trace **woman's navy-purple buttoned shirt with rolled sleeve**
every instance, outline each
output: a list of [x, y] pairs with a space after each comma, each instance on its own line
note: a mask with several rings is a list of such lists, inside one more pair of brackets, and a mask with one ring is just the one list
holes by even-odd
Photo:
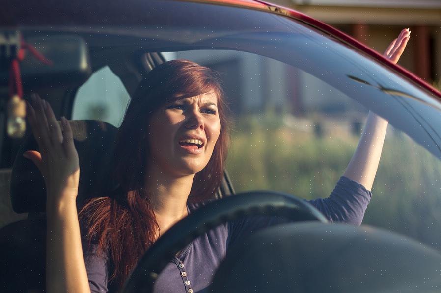
[[[308, 202], [321, 211], [330, 222], [360, 225], [371, 196], [371, 192], [361, 184], [341, 177], [328, 198]], [[191, 213], [201, 205], [203, 204], [188, 204], [188, 210]], [[181, 250], [159, 275], [154, 292], [205, 292], [229, 245], [253, 231], [286, 221], [282, 218], [262, 216], [242, 218], [219, 225]], [[83, 251], [91, 292], [107, 292], [107, 258], [95, 254], [94, 247], [87, 247], [86, 241], [83, 241]]]

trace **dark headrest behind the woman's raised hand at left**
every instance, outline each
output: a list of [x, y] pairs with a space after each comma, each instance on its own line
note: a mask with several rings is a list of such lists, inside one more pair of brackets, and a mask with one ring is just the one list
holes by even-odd
[[[74, 144], [80, 159], [80, 184], [77, 206], [84, 199], [116, 189], [111, 182], [113, 147], [117, 128], [109, 123], [95, 120], [69, 121]], [[32, 133], [28, 133], [14, 160], [11, 174], [11, 202], [16, 213], [44, 212], [46, 210], [46, 187], [35, 164], [23, 157], [27, 150], [39, 151]], [[99, 191], [99, 192], [98, 192]]]

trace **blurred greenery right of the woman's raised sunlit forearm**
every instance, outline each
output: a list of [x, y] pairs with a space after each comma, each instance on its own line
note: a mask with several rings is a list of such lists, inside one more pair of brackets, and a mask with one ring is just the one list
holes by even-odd
[[365, 222], [441, 247], [441, 164], [400, 133], [385, 142]]

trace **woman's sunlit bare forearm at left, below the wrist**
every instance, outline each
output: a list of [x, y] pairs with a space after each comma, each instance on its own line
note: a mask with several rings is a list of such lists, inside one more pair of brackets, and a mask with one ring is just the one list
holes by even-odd
[[[66, 196], [48, 196], [48, 198]], [[75, 196], [47, 203], [47, 292], [90, 292]]]

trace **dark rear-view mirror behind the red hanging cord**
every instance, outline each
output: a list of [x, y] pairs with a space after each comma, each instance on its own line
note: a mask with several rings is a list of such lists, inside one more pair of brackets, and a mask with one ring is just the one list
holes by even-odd
[[[0, 39], [1, 36], [0, 33]], [[25, 37], [24, 41], [51, 61], [51, 65], [45, 64], [31, 52], [26, 51], [24, 60], [20, 62], [20, 75], [25, 91], [35, 87], [51, 86], [54, 83], [83, 82], [90, 76], [88, 49], [81, 37], [45, 35]], [[1, 53], [4, 53], [4, 49], [2, 51]], [[8, 79], [9, 70], [2, 66], [0, 86], [7, 86]]]

